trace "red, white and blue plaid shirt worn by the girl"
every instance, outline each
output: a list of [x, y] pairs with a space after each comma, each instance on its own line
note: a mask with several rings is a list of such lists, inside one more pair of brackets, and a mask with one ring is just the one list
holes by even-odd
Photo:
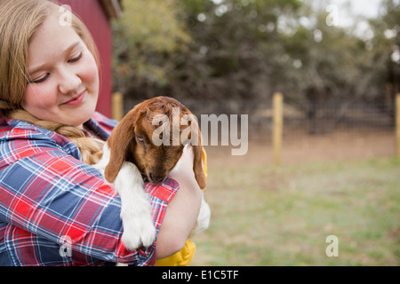
[[[85, 125], [107, 139], [116, 122]], [[121, 200], [81, 160], [67, 138], [0, 113], [0, 266], [155, 264], [156, 243], [124, 248]], [[178, 187], [146, 184], [157, 233]]]

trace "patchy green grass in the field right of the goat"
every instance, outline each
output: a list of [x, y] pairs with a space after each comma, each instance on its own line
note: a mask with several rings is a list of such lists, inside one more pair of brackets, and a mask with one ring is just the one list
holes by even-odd
[[[392, 158], [209, 170], [212, 221], [193, 265], [399, 265], [400, 162]], [[325, 239], [336, 235], [339, 256]]]

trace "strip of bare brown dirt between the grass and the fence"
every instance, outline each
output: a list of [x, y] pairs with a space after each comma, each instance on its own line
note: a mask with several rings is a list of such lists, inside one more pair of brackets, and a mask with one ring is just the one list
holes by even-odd
[[[291, 134], [284, 137], [282, 164], [362, 160], [396, 153], [395, 133], [387, 130], [338, 130], [325, 135]], [[232, 146], [205, 146], [209, 167], [226, 164], [272, 164], [271, 138], [249, 141], [248, 152], [233, 156]]]

